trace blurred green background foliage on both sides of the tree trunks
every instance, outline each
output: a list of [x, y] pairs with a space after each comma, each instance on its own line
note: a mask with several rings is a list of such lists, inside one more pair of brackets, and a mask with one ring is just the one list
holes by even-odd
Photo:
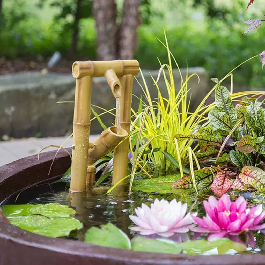
[[[32, 3], [31, 5], [28, 3], [30, 1], [3, 0], [0, 15], [0, 57], [31, 56], [45, 59], [56, 50], [67, 55], [72, 42], [72, 33], [66, 30], [65, 25], [72, 23], [74, 16], [70, 14], [71, 12], [61, 16], [61, 10], [53, 7], [54, 10], [50, 12], [46, 7], [44, 18], [41, 19], [39, 14], [42, 10], [37, 7], [38, 0], [32, 1], [36, 2], [34, 8]], [[148, 4], [141, 8], [145, 15], [143, 24], [138, 29], [135, 58], [139, 60], [142, 68], [157, 69], [159, 67], [157, 57], [162, 63], [167, 61], [166, 50], [157, 40], [157, 38], [164, 39], [163, 28], [166, 29], [171, 52], [179, 65], [185, 67], [188, 60], [189, 67], [205, 67], [210, 77], [221, 78], [244, 60], [264, 50], [265, 27], [261, 26], [258, 31], [240, 38], [246, 28], [244, 21], [257, 18], [253, 14], [246, 17], [242, 1], [235, 1], [240, 8], [242, 7], [241, 9], [238, 6], [226, 6], [222, 9], [214, 6], [216, 12], [214, 15], [211, 15], [209, 5], [212, 0], [187, 0], [184, 1], [185, 3], [183, 0], [178, 0], [178, 5], [175, 4], [176, 1], [167, 0], [169, 2], [167, 6], [161, 5], [161, 1], [152, 1], [152, 4], [157, 3], [158, 6], [160, 2], [161, 9], [157, 11], [150, 7], [149, 1], [146, 1]], [[50, 6], [49, 0], [47, 2]], [[165, 11], [166, 9], [172, 10]], [[175, 10], [178, 13], [175, 14]], [[204, 15], [202, 23], [193, 18], [193, 13], [196, 15], [198, 10]], [[96, 32], [92, 18], [80, 19], [76, 56], [80, 59], [96, 58]], [[264, 70], [261, 69], [258, 58], [235, 72], [234, 78], [237, 83], [264, 87]]]

